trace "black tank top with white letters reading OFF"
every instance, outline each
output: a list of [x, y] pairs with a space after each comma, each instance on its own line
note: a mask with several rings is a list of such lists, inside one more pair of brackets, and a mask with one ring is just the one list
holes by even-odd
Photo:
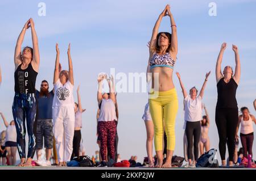
[[28, 64], [27, 69], [21, 69], [22, 64], [18, 66], [14, 73], [16, 93], [32, 94], [35, 93], [36, 76], [38, 73], [32, 68], [31, 63]]

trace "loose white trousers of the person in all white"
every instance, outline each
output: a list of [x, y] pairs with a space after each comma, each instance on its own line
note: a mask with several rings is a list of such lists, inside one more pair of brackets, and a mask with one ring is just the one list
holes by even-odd
[[53, 107], [52, 118], [58, 161], [70, 161], [73, 151], [73, 137], [75, 132], [74, 107]]

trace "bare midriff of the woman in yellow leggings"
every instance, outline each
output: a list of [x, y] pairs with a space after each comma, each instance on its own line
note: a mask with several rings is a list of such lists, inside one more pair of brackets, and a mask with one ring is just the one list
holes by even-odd
[[[156, 91], [168, 91], [174, 89], [174, 82], [172, 82], [172, 72], [174, 70], [167, 67], [156, 67], [151, 69], [152, 73], [152, 89]], [[158, 75], [157, 75], [158, 74]], [[155, 85], [155, 78], [159, 77], [158, 85]], [[157, 89], [158, 86], [158, 89]]]

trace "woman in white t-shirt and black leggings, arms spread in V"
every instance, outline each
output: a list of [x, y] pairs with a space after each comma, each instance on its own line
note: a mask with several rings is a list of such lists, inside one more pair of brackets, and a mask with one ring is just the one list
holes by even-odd
[[188, 140], [188, 166], [195, 167], [195, 164], [192, 163], [192, 146], [194, 146], [194, 155], [196, 161], [199, 154], [199, 140], [201, 134], [201, 99], [203, 98], [204, 95], [204, 89], [208, 81], [210, 71], [205, 75], [205, 81], [201, 88], [199, 96], [197, 96], [196, 87], [192, 87], [189, 90], [188, 95], [183, 83], [181, 82], [180, 74], [176, 72], [176, 75], [179, 78], [180, 86], [184, 96], [184, 120], [186, 121], [185, 132]]

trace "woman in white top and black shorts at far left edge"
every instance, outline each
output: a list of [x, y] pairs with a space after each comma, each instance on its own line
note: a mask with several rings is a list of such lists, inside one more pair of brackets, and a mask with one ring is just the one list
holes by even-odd
[[16, 152], [17, 152], [17, 133], [15, 128], [14, 120], [10, 124], [6, 121], [5, 116], [2, 112], [0, 115], [6, 126], [6, 137], [5, 137], [5, 148], [7, 151], [7, 157], [10, 161], [10, 165], [16, 165]]

